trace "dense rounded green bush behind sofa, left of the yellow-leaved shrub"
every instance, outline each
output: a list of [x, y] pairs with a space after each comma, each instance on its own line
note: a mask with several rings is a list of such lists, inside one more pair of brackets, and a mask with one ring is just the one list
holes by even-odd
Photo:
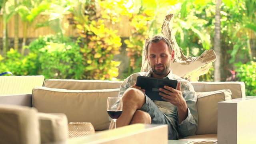
[[82, 55], [80, 47], [72, 42], [46, 42], [46, 46], [39, 51], [41, 74], [48, 78], [81, 79], [83, 73]]

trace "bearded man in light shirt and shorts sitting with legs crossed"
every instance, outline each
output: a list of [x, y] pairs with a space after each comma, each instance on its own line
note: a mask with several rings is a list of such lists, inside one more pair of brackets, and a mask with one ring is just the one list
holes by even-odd
[[[154, 36], [148, 41], [146, 56], [151, 70], [130, 75], [120, 86], [119, 96], [122, 96], [123, 112], [116, 121], [116, 127], [136, 123], [167, 124], [168, 138], [174, 140], [196, 134], [196, 92], [188, 81], [172, 74], [170, 65], [174, 54], [167, 38]], [[136, 86], [137, 76], [178, 80], [177, 89], [168, 86], [159, 88], [160, 96], [167, 102], [152, 101], [146, 96], [144, 89]], [[111, 126], [112, 122], [110, 128]]]

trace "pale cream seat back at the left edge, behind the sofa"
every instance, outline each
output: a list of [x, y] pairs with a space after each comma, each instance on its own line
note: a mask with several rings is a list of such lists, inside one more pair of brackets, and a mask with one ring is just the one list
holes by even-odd
[[44, 76], [0, 76], [0, 96], [31, 94], [43, 82]]

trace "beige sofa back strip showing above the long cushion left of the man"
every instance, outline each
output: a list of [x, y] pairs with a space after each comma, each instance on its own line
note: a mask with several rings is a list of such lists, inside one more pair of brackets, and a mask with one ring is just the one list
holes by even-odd
[[47, 88], [60, 88], [67, 90], [102, 90], [120, 88], [122, 82], [109, 80], [45, 80]]

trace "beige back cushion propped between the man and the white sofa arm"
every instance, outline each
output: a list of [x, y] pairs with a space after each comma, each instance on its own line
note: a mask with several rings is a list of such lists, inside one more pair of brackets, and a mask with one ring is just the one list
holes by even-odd
[[217, 134], [218, 102], [230, 100], [230, 90], [197, 93], [198, 130], [199, 134]]

